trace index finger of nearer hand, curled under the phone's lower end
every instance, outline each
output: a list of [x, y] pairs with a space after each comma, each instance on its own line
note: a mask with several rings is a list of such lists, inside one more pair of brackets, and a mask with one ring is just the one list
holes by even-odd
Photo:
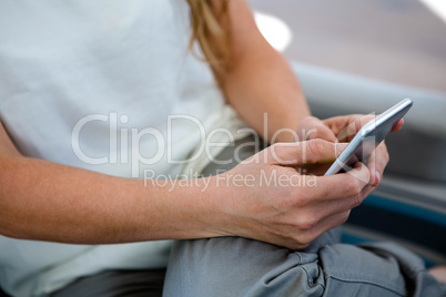
[[[332, 201], [355, 197], [361, 194], [369, 182], [368, 168], [363, 163], [356, 163], [347, 173], [338, 173], [327, 176], [302, 176], [303, 187], [296, 196], [304, 196], [307, 201]], [[305, 199], [303, 199], [305, 201]]]

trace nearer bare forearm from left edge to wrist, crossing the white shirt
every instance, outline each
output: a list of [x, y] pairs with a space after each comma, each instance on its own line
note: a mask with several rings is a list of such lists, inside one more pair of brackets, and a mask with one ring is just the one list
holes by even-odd
[[0, 234], [6, 236], [113, 244], [214, 235], [206, 229], [213, 199], [200, 180], [183, 188], [144, 185], [26, 157], [2, 158], [0, 167]]

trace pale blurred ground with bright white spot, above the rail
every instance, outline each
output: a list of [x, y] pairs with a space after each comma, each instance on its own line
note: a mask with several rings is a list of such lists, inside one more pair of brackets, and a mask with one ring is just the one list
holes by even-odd
[[266, 39], [298, 62], [446, 92], [444, 0], [250, 0]]

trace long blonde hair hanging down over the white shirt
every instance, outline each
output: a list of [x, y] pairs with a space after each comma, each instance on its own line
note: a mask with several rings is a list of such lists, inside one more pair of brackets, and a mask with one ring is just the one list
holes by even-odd
[[190, 50], [193, 51], [195, 41], [200, 43], [204, 60], [211, 65], [221, 86], [230, 63], [229, 0], [220, 0], [219, 6], [213, 6], [213, 1], [215, 2], [215, 0], [187, 0], [192, 24]]

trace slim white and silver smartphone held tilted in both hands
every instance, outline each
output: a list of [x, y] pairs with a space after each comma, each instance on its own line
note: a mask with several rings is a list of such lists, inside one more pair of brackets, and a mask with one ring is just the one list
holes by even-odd
[[405, 99], [367, 122], [356, 133], [355, 137], [348, 143], [347, 147], [345, 147], [325, 175], [347, 172], [352, 170], [356, 162], [366, 163], [372, 152], [387, 136], [412, 105], [412, 100]]

